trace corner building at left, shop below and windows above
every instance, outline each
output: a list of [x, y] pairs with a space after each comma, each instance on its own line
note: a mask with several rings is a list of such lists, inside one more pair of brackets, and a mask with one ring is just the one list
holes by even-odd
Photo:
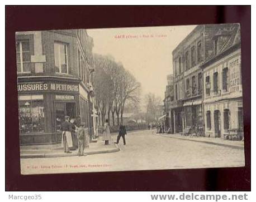
[[16, 33], [21, 145], [60, 142], [66, 115], [93, 137], [92, 47], [85, 29]]

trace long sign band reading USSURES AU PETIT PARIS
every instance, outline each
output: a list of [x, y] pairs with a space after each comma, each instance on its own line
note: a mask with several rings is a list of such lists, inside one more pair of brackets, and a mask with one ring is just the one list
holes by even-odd
[[79, 92], [77, 84], [55, 82], [18, 83], [18, 92], [54, 91], [54, 92]]

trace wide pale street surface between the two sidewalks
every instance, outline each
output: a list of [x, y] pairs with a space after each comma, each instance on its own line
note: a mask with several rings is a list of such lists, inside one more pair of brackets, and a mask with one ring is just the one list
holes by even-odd
[[126, 142], [124, 146], [120, 139], [120, 151], [108, 154], [21, 159], [22, 174], [244, 166], [243, 149], [169, 138], [152, 130], [128, 132]]

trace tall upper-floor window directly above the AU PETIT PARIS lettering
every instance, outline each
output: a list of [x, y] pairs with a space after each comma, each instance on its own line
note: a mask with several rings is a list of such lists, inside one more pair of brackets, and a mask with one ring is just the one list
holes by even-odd
[[54, 43], [54, 61], [56, 73], [68, 72], [68, 46], [64, 43]]

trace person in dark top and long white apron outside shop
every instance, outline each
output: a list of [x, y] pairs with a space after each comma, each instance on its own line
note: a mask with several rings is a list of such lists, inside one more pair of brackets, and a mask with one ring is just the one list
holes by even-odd
[[60, 130], [62, 131], [61, 145], [64, 147], [65, 153], [71, 153], [69, 147], [73, 147], [72, 142], [72, 124], [69, 122], [69, 116], [65, 116], [65, 121], [61, 124]]

